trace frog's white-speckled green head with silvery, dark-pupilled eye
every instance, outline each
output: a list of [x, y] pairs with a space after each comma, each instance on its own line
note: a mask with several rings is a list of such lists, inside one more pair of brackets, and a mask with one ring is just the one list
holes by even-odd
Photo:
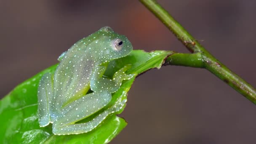
[[108, 55], [109, 60], [118, 59], [131, 53], [133, 46], [124, 35], [115, 33], [110, 27], [102, 27], [98, 32], [102, 34], [102, 39], [108, 42], [104, 53]]

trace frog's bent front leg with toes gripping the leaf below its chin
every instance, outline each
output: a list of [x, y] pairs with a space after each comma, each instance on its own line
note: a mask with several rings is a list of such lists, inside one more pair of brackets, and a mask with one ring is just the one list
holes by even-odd
[[122, 84], [122, 80], [129, 80], [134, 76], [133, 74], [130, 74], [130, 75], [125, 74], [125, 71], [127, 71], [130, 67], [131, 65], [125, 65], [123, 68], [115, 72], [112, 80], [109, 80], [107, 78], [102, 77], [107, 67], [103, 65], [99, 65], [93, 71], [93, 75], [90, 83], [91, 90], [92, 91], [108, 91], [109, 93], [114, 93], [120, 88]]

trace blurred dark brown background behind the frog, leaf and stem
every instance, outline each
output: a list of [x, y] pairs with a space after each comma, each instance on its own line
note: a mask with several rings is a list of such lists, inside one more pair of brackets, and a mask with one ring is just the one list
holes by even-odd
[[[256, 87], [256, 1], [159, 0], [220, 61]], [[103, 26], [134, 49], [188, 52], [137, 0], [0, 0], [0, 96]], [[138, 77], [113, 144], [254, 144], [256, 106], [205, 69]]]

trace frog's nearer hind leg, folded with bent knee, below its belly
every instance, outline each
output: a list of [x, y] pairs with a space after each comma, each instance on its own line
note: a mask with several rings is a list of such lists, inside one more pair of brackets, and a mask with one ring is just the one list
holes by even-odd
[[93, 92], [68, 104], [61, 110], [61, 117], [53, 123], [53, 133], [58, 135], [79, 134], [93, 130], [106, 116], [98, 115], [87, 123], [75, 123], [105, 107], [112, 99], [107, 92]]

